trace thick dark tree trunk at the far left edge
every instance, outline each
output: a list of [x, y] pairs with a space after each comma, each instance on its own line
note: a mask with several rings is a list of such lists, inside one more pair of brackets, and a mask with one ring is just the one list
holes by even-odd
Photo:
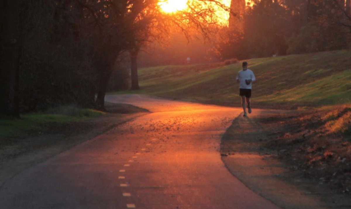
[[22, 54], [20, 1], [1, 1], [0, 114], [19, 117], [19, 68]]

